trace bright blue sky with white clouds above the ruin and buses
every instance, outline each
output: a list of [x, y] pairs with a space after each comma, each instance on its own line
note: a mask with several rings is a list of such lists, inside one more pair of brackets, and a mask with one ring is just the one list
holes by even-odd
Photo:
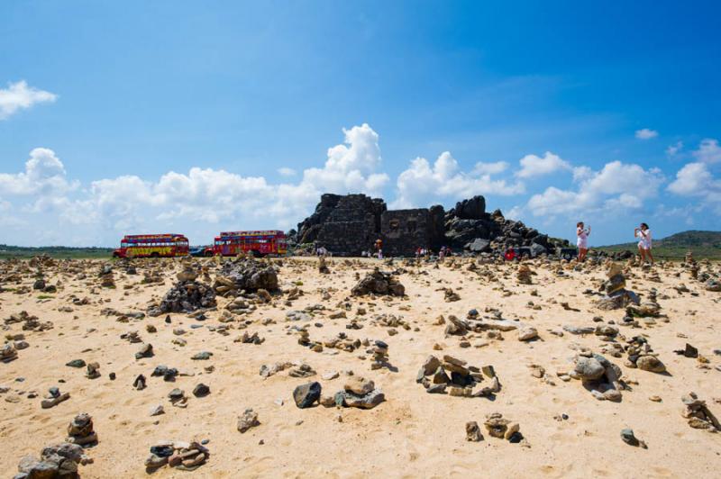
[[[392, 4], [392, 5], [388, 5]], [[631, 5], [627, 5], [631, 4]], [[721, 229], [714, 2], [0, 4], [0, 243], [484, 194], [591, 244]]]

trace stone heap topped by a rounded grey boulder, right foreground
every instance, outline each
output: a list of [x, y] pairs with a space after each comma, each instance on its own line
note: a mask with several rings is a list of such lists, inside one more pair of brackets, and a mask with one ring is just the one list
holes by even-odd
[[621, 401], [621, 368], [599, 354], [581, 351], [574, 359], [575, 366], [569, 373], [573, 379], [580, 379], [583, 385], [599, 401]]

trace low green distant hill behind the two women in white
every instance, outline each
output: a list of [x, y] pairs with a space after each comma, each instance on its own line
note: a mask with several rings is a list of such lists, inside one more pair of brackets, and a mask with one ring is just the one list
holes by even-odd
[[[616, 252], [630, 249], [635, 251], [638, 242], [620, 245], [600, 246], [600, 251]], [[692, 251], [694, 258], [721, 259], [721, 231], [689, 230], [672, 234], [663, 239], [653, 240], [653, 256], [667, 258], [683, 258], [687, 251]]]

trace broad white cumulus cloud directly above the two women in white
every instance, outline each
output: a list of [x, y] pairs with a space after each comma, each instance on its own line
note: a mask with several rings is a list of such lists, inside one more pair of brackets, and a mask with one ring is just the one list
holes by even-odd
[[643, 169], [620, 161], [607, 163], [599, 171], [587, 172], [576, 190], [555, 186], [534, 194], [526, 208], [534, 216], [557, 216], [577, 212], [637, 209], [658, 194], [663, 176], [658, 168]]

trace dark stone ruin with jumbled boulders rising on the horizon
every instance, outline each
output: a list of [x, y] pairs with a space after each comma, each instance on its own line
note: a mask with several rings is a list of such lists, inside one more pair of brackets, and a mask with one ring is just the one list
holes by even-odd
[[437, 252], [442, 246], [471, 253], [525, 247], [535, 257], [569, 246], [568, 241], [550, 239], [521, 221], [505, 219], [499, 210], [486, 212], [486, 199], [480, 195], [446, 212], [441, 205], [388, 210], [382, 199], [365, 194], [324, 194], [315, 212], [289, 237], [343, 257], [373, 252], [377, 239], [383, 241], [388, 257], [412, 257], [418, 248]]

